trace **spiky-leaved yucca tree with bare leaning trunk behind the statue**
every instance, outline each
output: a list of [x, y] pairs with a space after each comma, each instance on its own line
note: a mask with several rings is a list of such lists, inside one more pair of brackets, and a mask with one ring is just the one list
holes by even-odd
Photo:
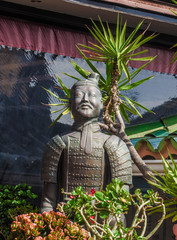
[[[147, 64], [152, 62], [155, 58], [152, 56], [141, 56], [142, 54], [147, 52], [147, 50], [138, 51], [138, 49], [140, 46], [153, 39], [156, 35], [152, 34], [148, 37], [145, 37], [145, 33], [147, 31], [146, 29], [144, 32], [140, 33], [137, 36], [138, 30], [140, 29], [143, 21], [141, 21], [136, 26], [136, 28], [128, 37], [126, 37], [127, 23], [125, 22], [122, 26], [119, 22], [119, 17], [117, 18], [115, 36], [112, 34], [108, 24], [106, 28], [102, 23], [101, 19], [99, 19], [99, 23], [100, 28], [92, 20], [93, 26], [92, 28], [89, 28], [89, 31], [97, 41], [97, 44], [90, 43], [90, 46], [78, 44], [77, 49], [90, 67], [91, 71], [96, 72], [100, 75], [99, 87], [102, 92], [104, 104], [104, 123], [100, 123], [100, 126], [111, 134], [118, 135], [127, 144], [133, 161], [143, 173], [144, 177], [149, 178], [148, 172], [151, 172], [151, 170], [146, 166], [144, 161], [136, 152], [130, 139], [126, 135], [124, 120], [129, 123], [129, 117], [127, 112], [135, 115], [138, 114], [139, 116], [141, 116], [138, 108], [142, 108], [149, 112], [151, 111], [146, 107], [142, 106], [140, 103], [123, 95], [121, 91], [129, 91], [152, 78], [152, 76], [149, 76], [148, 78], [141, 79], [139, 81], [135, 80], [136, 76], [140, 73], [140, 71]], [[93, 61], [100, 61], [105, 63], [105, 78], [94, 66]], [[130, 73], [127, 66], [129, 61], [144, 61], [145, 63], [140, 68]], [[90, 74], [89, 71], [84, 70], [74, 61], [71, 61], [71, 63], [81, 77], [88, 77], [88, 75]], [[64, 74], [77, 81], [80, 80], [80, 78], [76, 78], [75, 76], [71, 76], [67, 73]], [[132, 82], [132, 80], [135, 81]], [[64, 83], [59, 77], [58, 81], [67, 97], [66, 99], [61, 99], [60, 97], [46, 89], [46, 91], [51, 93], [60, 101], [60, 103], [58, 104], [56, 103], [50, 105], [55, 105], [59, 107], [63, 106], [62, 109], [55, 111], [61, 111], [61, 113], [53, 123], [58, 121], [61, 116], [70, 112], [68, 100], [70, 98], [70, 89], [68, 89], [64, 85]]]

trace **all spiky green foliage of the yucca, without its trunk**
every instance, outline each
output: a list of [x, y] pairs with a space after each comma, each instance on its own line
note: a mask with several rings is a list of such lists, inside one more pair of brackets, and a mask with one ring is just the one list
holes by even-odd
[[[131, 90], [152, 78], [152, 76], [150, 76], [148, 78], [141, 79], [138, 81], [135, 80], [136, 76], [140, 73], [140, 71], [149, 63], [151, 63], [155, 58], [151, 56], [142, 57], [143, 54], [147, 52], [147, 50], [139, 51], [138, 48], [142, 46], [144, 43], [153, 39], [156, 35], [152, 34], [151, 36], [144, 37], [147, 29], [143, 33], [138, 35], [138, 31], [140, 30], [140, 27], [142, 26], [143, 21], [141, 21], [135, 27], [135, 29], [129, 34], [129, 36], [127, 36], [127, 33], [126, 33], [127, 22], [122, 24], [122, 20], [119, 19], [119, 16], [117, 17], [117, 26], [115, 29], [115, 36], [111, 32], [109, 24], [106, 24], [105, 26], [105, 24], [103, 24], [100, 18], [99, 18], [99, 24], [100, 24], [99, 26], [93, 20], [91, 21], [92, 21], [92, 27], [89, 28], [89, 31], [91, 32], [95, 40], [97, 40], [97, 43], [90, 43], [89, 46], [78, 44], [78, 46], [76, 47], [80, 52], [81, 56], [83, 57], [84, 61], [87, 63], [87, 65], [91, 69], [91, 72], [95, 72], [100, 75], [100, 80], [98, 85], [102, 92], [103, 104], [106, 105], [111, 98], [112, 72], [115, 67], [115, 64], [117, 64], [118, 72], [119, 72], [119, 74], [117, 75], [117, 81], [118, 81], [117, 89], [119, 93], [122, 90], [124, 91]], [[130, 60], [145, 61], [145, 63], [143, 63], [143, 65], [138, 69], [135, 69], [133, 72], [130, 72], [128, 68], [128, 62]], [[95, 67], [93, 63], [94, 61], [100, 61], [105, 63], [105, 75], [106, 75], [105, 77]], [[90, 71], [86, 71], [85, 69], [80, 67], [74, 60], [71, 61], [71, 64], [73, 65], [74, 70], [79, 74], [79, 77], [75, 77], [74, 75], [70, 75], [67, 73], [64, 73], [64, 75], [74, 79], [75, 81], [79, 81], [82, 78], [87, 78], [88, 75], [90, 74]], [[123, 75], [125, 76], [124, 78], [122, 77]], [[62, 80], [58, 76], [57, 78], [58, 78], [59, 85], [66, 96], [66, 99], [61, 99], [56, 94], [45, 89], [48, 93], [56, 97], [60, 102], [59, 103], [60, 105], [58, 104], [55, 106], [63, 107], [61, 110], [55, 111], [55, 113], [60, 112], [60, 114], [54, 122], [58, 121], [60, 117], [62, 117], [65, 113], [69, 112], [68, 109], [69, 109], [69, 98], [70, 98], [70, 89], [65, 86], [65, 84], [62, 82]], [[133, 79], [134, 79], [134, 82], [131, 83]], [[130, 112], [131, 114], [138, 114], [140, 117], [142, 117], [137, 107], [147, 110], [149, 112], [152, 112], [146, 107], [142, 106], [140, 103], [135, 102], [130, 98], [124, 96], [122, 93], [119, 94], [119, 97], [121, 99], [121, 104], [119, 106], [120, 112], [126, 122], [129, 122], [129, 117], [127, 112]], [[112, 116], [112, 119], [114, 119], [115, 113], [111, 111], [112, 110], [110, 110], [110, 114]]]

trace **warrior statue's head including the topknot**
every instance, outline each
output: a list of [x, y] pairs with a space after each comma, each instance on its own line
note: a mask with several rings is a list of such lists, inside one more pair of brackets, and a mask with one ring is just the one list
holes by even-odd
[[70, 109], [75, 120], [99, 116], [103, 103], [98, 80], [99, 74], [91, 73], [87, 79], [77, 81], [71, 88]]

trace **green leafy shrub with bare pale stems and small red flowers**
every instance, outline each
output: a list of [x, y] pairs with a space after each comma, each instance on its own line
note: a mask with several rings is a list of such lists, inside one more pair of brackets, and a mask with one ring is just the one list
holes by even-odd
[[[123, 185], [117, 178], [106, 186], [105, 191], [94, 192], [92, 189], [90, 194], [80, 186], [72, 193], [65, 193], [70, 195], [71, 200], [63, 207], [60, 204], [58, 209], [63, 209], [74, 221], [84, 223], [91, 236], [97, 240], [151, 239], [165, 218], [163, 199], [153, 190], [143, 195], [137, 189], [134, 194], [130, 194]], [[131, 205], [135, 208], [135, 214], [130, 225], [125, 226], [123, 216], [128, 214]], [[163, 211], [154, 229], [147, 233], [148, 211], [153, 206], [161, 207]]]

